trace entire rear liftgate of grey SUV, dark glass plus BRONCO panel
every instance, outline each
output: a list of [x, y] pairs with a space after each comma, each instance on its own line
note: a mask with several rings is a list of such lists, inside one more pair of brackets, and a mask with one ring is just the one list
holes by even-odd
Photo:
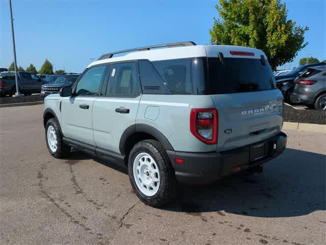
[[236, 54], [208, 58], [209, 93], [219, 115], [218, 151], [262, 141], [282, 129], [283, 96], [267, 60], [254, 52]]

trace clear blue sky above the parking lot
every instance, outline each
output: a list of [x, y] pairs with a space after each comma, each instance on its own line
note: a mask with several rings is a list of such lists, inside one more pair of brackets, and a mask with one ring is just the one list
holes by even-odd
[[[308, 26], [293, 68], [307, 54], [326, 59], [326, 1], [282, 0], [288, 18]], [[17, 65], [39, 70], [47, 58], [54, 69], [82, 72], [104, 53], [152, 44], [195, 41], [209, 44], [213, 0], [12, 0]], [[0, 0], [0, 67], [13, 61], [8, 0]]]

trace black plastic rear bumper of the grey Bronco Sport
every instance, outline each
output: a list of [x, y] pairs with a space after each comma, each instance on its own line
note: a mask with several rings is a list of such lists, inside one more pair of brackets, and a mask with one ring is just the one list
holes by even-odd
[[[252, 145], [225, 152], [167, 152], [175, 169], [177, 180], [183, 184], [200, 185], [233, 174], [235, 167], [240, 167], [242, 171], [279, 156], [286, 148], [286, 141], [287, 135], [281, 132], [274, 137], [253, 144], [266, 143], [266, 156], [256, 161], [250, 161]], [[277, 145], [276, 150], [274, 150], [274, 144]], [[184, 163], [175, 163], [175, 158], [184, 159]]]

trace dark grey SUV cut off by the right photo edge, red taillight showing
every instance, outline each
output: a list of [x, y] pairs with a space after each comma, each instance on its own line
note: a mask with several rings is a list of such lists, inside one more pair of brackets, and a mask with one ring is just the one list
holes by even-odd
[[295, 81], [290, 97], [293, 103], [313, 105], [316, 110], [326, 110], [326, 65], [308, 68]]

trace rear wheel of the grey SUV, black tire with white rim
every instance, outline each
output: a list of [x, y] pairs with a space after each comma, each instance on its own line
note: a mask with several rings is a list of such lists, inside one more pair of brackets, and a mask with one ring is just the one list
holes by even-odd
[[156, 140], [143, 140], [133, 146], [128, 159], [128, 174], [138, 198], [149, 206], [166, 205], [176, 197], [173, 167], [166, 150]]

